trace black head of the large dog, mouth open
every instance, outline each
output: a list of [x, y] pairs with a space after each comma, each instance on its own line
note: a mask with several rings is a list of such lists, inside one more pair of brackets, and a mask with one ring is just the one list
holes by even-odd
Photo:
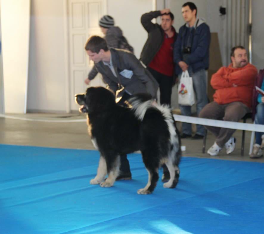
[[114, 93], [100, 86], [87, 88], [85, 94], [76, 94], [75, 102], [83, 113], [100, 112], [116, 105]]

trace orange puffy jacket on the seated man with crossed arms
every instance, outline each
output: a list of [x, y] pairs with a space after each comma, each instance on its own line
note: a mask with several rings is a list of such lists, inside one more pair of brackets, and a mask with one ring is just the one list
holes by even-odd
[[251, 108], [256, 77], [257, 68], [250, 63], [242, 68], [233, 68], [232, 63], [228, 67], [221, 67], [211, 78], [211, 85], [216, 90], [214, 101], [218, 104], [243, 102]]

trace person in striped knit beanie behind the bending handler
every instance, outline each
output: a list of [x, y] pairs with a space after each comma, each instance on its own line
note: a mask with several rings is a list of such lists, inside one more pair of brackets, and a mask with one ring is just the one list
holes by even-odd
[[[133, 53], [133, 47], [128, 44], [127, 39], [123, 36], [122, 30], [118, 26], [114, 26], [114, 24], [114, 18], [110, 15], [104, 15], [99, 20], [99, 26], [105, 35], [104, 39], [106, 40], [108, 48], [125, 49]], [[84, 81], [86, 85], [96, 77], [97, 73], [98, 71], [94, 66]]]

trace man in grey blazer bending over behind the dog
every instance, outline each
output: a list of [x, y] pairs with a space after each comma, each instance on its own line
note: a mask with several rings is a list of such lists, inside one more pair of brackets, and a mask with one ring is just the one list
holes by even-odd
[[[159, 84], [135, 55], [121, 49], [108, 49], [105, 39], [99, 36], [91, 36], [85, 44], [85, 50], [108, 88], [116, 96], [119, 95], [118, 104], [124, 105], [136, 93], [149, 93], [156, 98]], [[120, 159], [120, 175], [117, 180], [130, 180], [131, 172], [126, 155], [122, 155]]]

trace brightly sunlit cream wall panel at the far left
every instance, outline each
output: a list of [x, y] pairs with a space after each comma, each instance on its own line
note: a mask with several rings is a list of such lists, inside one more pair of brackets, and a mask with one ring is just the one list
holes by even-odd
[[1, 0], [0, 3], [5, 112], [25, 113], [30, 1]]

